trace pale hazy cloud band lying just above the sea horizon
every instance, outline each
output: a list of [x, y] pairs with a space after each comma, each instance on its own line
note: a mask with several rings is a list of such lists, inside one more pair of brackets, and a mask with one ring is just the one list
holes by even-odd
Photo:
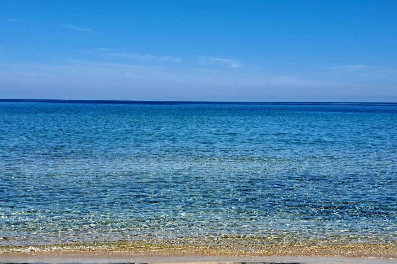
[[[335, 101], [355, 95], [366, 96], [362, 100], [368, 101], [370, 96], [382, 94], [397, 98], [395, 82], [384, 84], [371, 92], [371, 85], [354, 82], [179, 65], [159, 67], [94, 61], [69, 61], [64, 65], [0, 63], [3, 98], [19, 98], [19, 94], [29, 98], [173, 101]], [[356, 100], [357, 96], [352, 98]]]

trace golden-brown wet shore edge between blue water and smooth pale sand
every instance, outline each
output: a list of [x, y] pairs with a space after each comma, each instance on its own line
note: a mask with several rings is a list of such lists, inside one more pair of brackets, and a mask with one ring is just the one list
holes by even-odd
[[160, 243], [58, 244], [0, 246], [0, 263], [4, 256], [70, 255], [162, 255], [202, 254], [208, 256], [340, 256], [348, 258], [397, 259], [397, 244], [229, 244], [175, 245]]

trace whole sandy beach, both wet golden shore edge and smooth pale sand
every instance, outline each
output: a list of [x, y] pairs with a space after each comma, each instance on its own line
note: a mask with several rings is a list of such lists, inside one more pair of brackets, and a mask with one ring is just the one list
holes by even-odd
[[[42, 246], [44, 247], [44, 246]], [[261, 250], [227, 247], [125, 244], [118, 246], [76, 245], [22, 248], [0, 253], [0, 263], [81, 264], [218, 264], [218, 263], [307, 263], [386, 264], [397, 263], [395, 245], [273, 246]]]

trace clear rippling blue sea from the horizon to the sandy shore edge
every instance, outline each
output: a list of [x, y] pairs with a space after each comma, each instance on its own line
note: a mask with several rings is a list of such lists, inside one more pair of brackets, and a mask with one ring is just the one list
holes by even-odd
[[0, 101], [0, 245], [395, 243], [397, 104]]

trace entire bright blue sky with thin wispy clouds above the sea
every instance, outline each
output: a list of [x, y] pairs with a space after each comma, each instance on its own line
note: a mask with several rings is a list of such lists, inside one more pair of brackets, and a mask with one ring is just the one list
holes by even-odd
[[397, 1], [1, 0], [0, 98], [397, 102]]

